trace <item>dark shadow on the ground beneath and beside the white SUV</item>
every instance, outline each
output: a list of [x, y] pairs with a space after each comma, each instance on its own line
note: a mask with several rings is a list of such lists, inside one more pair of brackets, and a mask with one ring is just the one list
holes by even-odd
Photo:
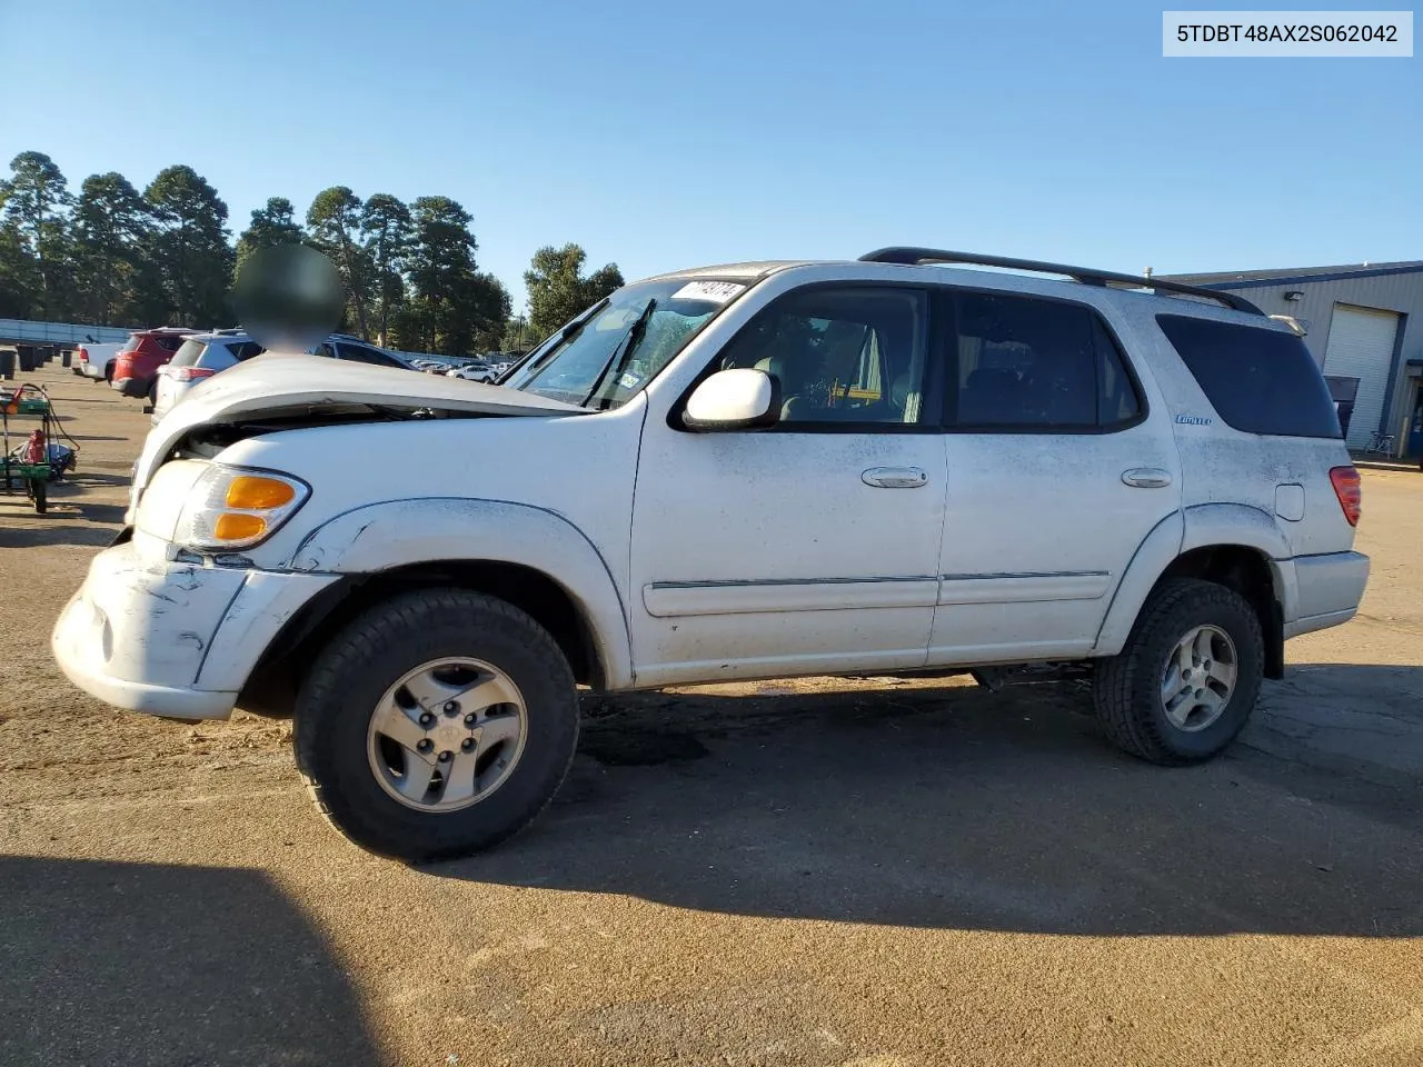
[[[1276, 704], [1308, 701], [1321, 671], [1360, 693], [1375, 670], [1399, 681], [1312, 670]], [[539, 822], [428, 871], [857, 923], [1423, 935], [1423, 790], [1248, 744], [1154, 767], [1107, 747], [1089, 711], [1066, 686], [595, 700]]]

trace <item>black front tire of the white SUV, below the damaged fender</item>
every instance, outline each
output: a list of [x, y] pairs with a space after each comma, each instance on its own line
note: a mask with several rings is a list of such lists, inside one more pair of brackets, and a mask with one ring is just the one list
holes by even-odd
[[[464, 750], [457, 745], [471, 740], [455, 737], [475, 713], [465, 716], [467, 708], [454, 699], [440, 704], [447, 696], [470, 697], [472, 689], [454, 690], [472, 686], [471, 676], [460, 680], [458, 671], [465, 667], [425, 670], [431, 663], [450, 660], [477, 662], [481, 681], [484, 669], [495, 680], [502, 674], [499, 684], [514, 687], [504, 691], [518, 697], [484, 711], [490, 717], [482, 723], [491, 733], [498, 723], [502, 730], [519, 730], [521, 740], [517, 751], [505, 747], [512, 741], [495, 743], [492, 755], [498, 761], [482, 774], [478, 760], [488, 758], [481, 754], [482, 741], [461, 755]], [[440, 671], [455, 681], [435, 681]], [[427, 693], [444, 696], [414, 706], [414, 690], [400, 684], [410, 674], [423, 681]], [[401, 747], [380, 733], [380, 724], [398, 721], [388, 710], [401, 701], [410, 704], [401, 731], [414, 731], [421, 738], [411, 744], [434, 744], [425, 760], [450, 757], [451, 763], [424, 767], [417, 763], [421, 757], [416, 755], [416, 747]], [[451, 706], [454, 713], [448, 710]], [[467, 706], [481, 704], [471, 699]], [[381, 708], [387, 710], [386, 717], [380, 716]], [[515, 727], [509, 727], [509, 708], [519, 720]], [[414, 716], [420, 716], [418, 723]], [[403, 593], [357, 616], [317, 654], [297, 693], [295, 718], [296, 764], [317, 809], [361, 848], [410, 864], [470, 855], [527, 827], [558, 792], [578, 744], [573, 674], [554, 639], [512, 605], [460, 589]], [[420, 724], [425, 718], [434, 720], [428, 730]], [[397, 764], [403, 771], [398, 775], [391, 770]], [[457, 775], [445, 778], [443, 768], [461, 765], [475, 767], [468, 780], [474, 798], [447, 801], [444, 797], [455, 788]], [[435, 784], [418, 798], [411, 792], [401, 801], [400, 782], [414, 791], [411, 777], [421, 773], [427, 782]], [[478, 795], [481, 778], [491, 775], [502, 777]], [[450, 809], [450, 804], [465, 807]]]

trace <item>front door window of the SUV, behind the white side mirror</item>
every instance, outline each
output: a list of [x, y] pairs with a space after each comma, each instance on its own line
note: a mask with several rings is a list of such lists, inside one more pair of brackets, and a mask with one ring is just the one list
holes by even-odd
[[912, 289], [807, 289], [757, 314], [721, 368], [756, 367], [781, 387], [781, 423], [918, 423], [926, 296]]

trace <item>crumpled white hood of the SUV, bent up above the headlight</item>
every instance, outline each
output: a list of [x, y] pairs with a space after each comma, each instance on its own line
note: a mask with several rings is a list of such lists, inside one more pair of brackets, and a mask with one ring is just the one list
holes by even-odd
[[194, 427], [297, 414], [312, 408], [379, 404], [487, 415], [585, 415], [586, 408], [529, 393], [420, 374], [397, 367], [344, 363], [322, 356], [266, 353], [205, 381], [152, 428], [134, 468], [144, 487], [154, 468]]

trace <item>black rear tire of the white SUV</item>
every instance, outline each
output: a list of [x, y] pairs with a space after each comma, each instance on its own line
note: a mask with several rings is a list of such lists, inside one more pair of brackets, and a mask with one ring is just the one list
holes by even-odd
[[[1215, 703], [1224, 703], [1224, 707], [1212, 713], [1197, 706], [1185, 714], [1198, 714], [1200, 724], [1190, 720], [1181, 724], [1167, 710], [1167, 664], [1170, 660], [1173, 671], [1183, 666], [1178, 646], [1195, 632], [1204, 632], [1215, 649], [1207, 662], [1221, 663], [1234, 657], [1235, 673], [1224, 701], [1220, 690], [1225, 687], [1205, 674], [1202, 689], [1208, 689]], [[1195, 646], [1195, 642], [1191, 644]], [[1093, 680], [1097, 721], [1113, 744], [1143, 760], [1163, 765], [1210, 760], [1245, 727], [1259, 697], [1264, 664], [1265, 640], [1259, 617], [1239, 593], [1214, 582], [1173, 579], [1147, 600], [1121, 653], [1097, 666]], [[1202, 676], [1192, 674], [1190, 681], [1185, 677], [1183, 670], [1180, 681], [1170, 679], [1173, 686], [1184, 687], [1180, 703], [1175, 703], [1177, 716], [1194, 700], [1192, 691], [1202, 693], [1202, 689], [1191, 689]], [[1215, 717], [1210, 718], [1211, 714]]]

